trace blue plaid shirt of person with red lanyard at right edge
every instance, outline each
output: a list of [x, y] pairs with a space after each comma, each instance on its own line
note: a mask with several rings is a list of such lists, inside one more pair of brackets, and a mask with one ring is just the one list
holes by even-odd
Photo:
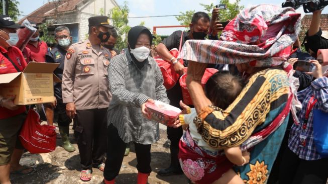
[[298, 100], [302, 103], [302, 110], [298, 115], [300, 123], [298, 125], [293, 124], [289, 134], [288, 147], [289, 149], [298, 155], [299, 158], [303, 160], [317, 160], [321, 156], [315, 149], [313, 141], [313, 112], [311, 110], [306, 129], [304, 134], [306, 136], [305, 147], [300, 147], [300, 134], [303, 131], [302, 125], [305, 120], [305, 113], [308, 103], [311, 97], [317, 100], [313, 109], [320, 109], [322, 112], [328, 113], [328, 78], [321, 77], [313, 80], [311, 85], [298, 92]]

